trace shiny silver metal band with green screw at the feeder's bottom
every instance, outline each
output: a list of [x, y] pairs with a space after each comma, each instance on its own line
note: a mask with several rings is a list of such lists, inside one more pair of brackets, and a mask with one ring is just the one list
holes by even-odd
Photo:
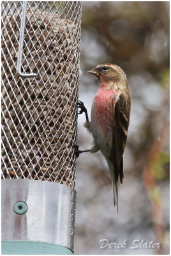
[[28, 242], [33, 246], [40, 243], [42, 248], [68, 248], [73, 252], [75, 199], [75, 189], [63, 184], [2, 180], [2, 241], [28, 244], [28, 248], [31, 248]]

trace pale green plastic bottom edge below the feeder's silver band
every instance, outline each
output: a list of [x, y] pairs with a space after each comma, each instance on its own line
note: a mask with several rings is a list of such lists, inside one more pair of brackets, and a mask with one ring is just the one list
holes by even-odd
[[70, 249], [57, 244], [43, 243], [37, 241], [6, 240], [2, 241], [1, 254], [51, 254], [69, 255], [73, 254]]

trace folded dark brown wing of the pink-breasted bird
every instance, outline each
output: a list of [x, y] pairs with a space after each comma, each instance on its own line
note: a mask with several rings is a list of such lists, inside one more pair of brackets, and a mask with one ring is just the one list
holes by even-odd
[[128, 125], [130, 122], [130, 94], [121, 92], [117, 100], [112, 100], [114, 127], [112, 141], [111, 160], [114, 163], [115, 181], [120, 177], [121, 184], [123, 182], [123, 153], [128, 134]]

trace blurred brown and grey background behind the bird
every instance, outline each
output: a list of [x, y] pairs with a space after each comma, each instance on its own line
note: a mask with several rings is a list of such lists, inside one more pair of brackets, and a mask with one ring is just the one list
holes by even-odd
[[[169, 253], [169, 2], [83, 2], [79, 99], [91, 115], [98, 90], [87, 70], [114, 63], [128, 76], [131, 119], [119, 213], [100, 152], [77, 159], [75, 254]], [[93, 138], [78, 116], [78, 145]], [[100, 248], [100, 239], [126, 248]], [[160, 248], [131, 249], [135, 239]], [[140, 246], [142, 247], [142, 246]]]

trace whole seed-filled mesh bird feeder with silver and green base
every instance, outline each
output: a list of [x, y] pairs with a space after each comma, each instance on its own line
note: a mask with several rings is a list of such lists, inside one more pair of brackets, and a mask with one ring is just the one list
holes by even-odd
[[70, 254], [81, 2], [2, 12], [2, 252]]

